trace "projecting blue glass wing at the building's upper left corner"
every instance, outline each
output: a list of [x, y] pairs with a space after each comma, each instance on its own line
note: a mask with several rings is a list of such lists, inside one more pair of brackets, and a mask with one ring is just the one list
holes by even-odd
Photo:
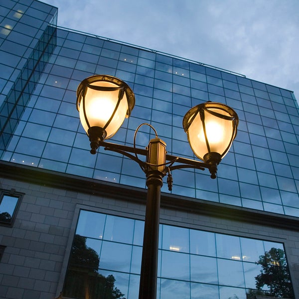
[[57, 9], [11, 1], [1, 13], [0, 152], [9, 144], [55, 47]]

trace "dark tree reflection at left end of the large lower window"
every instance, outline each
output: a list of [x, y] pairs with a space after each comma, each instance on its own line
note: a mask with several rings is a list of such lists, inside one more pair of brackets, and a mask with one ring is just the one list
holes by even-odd
[[113, 275], [98, 273], [100, 258], [86, 246], [86, 238], [75, 235], [63, 295], [76, 299], [126, 299], [114, 286]]

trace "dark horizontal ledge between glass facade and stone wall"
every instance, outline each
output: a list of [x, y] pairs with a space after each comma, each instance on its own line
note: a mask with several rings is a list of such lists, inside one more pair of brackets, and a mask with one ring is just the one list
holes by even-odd
[[[0, 161], [0, 176], [113, 199], [146, 203], [147, 189], [101, 181], [42, 168]], [[239, 206], [161, 193], [161, 208], [208, 215], [219, 219], [299, 231], [299, 218]]]

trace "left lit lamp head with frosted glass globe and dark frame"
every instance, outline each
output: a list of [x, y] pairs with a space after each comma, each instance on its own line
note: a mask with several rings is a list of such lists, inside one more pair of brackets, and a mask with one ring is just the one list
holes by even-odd
[[91, 153], [96, 153], [99, 141], [115, 135], [134, 105], [133, 91], [116, 77], [95, 75], [79, 84], [77, 110], [91, 142]]

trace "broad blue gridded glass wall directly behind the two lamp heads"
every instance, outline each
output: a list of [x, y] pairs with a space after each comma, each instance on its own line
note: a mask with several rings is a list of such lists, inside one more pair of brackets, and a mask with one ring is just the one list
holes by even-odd
[[[136, 95], [130, 119], [112, 142], [132, 145], [136, 128], [147, 122], [169, 153], [194, 158], [182, 129], [189, 108], [212, 100], [238, 113], [238, 135], [219, 165], [218, 179], [212, 181], [200, 170], [177, 170], [173, 194], [299, 216], [299, 110], [292, 92], [68, 30], [57, 29], [57, 46], [24, 103], [17, 127], [10, 126], [13, 137], [7, 145], [3, 141], [1, 159], [145, 187], [135, 162], [102, 150], [96, 156], [87, 151], [75, 99], [78, 84], [94, 74], [119, 77]], [[7, 121], [7, 113], [2, 114]], [[150, 137], [143, 128], [137, 146], [146, 147]], [[167, 187], [162, 191], [168, 192]]]

